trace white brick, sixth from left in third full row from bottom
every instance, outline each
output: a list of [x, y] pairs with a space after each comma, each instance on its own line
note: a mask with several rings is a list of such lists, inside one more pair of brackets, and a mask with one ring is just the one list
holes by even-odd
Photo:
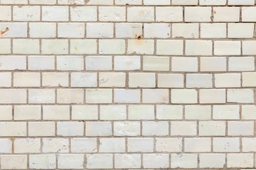
[[142, 122], [143, 136], [168, 136], [168, 122]]

